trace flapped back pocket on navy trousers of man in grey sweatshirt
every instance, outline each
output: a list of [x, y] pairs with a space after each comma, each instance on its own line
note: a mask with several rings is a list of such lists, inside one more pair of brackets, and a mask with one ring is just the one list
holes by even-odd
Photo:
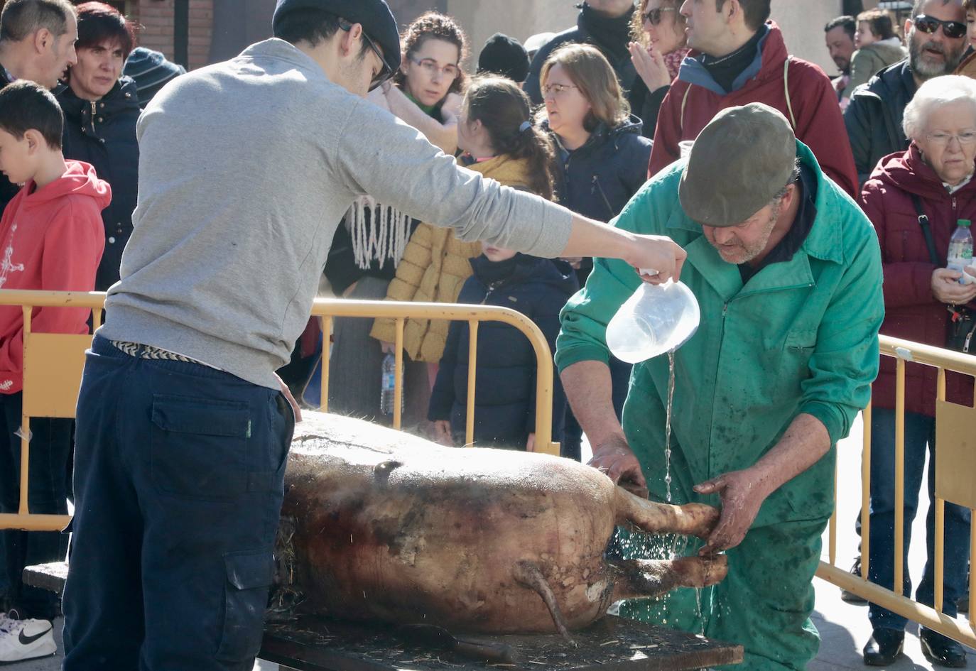
[[152, 397], [152, 482], [185, 498], [233, 500], [247, 492], [247, 403]]

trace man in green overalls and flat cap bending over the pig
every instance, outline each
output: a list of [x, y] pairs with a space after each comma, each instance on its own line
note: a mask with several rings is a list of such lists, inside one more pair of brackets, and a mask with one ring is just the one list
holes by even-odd
[[[681, 280], [702, 323], [675, 353], [671, 501], [721, 505], [693, 547], [729, 560], [701, 608], [686, 589], [622, 614], [742, 644], [751, 670], [803, 669], [819, 646], [811, 581], [834, 508], [834, 446], [877, 373], [874, 229], [760, 103], [719, 112], [615, 225], [670, 235], [688, 253]], [[563, 310], [556, 363], [590, 464], [665, 500], [668, 357], [634, 367], [623, 427], [606, 368], [606, 325], [639, 283], [627, 264], [595, 259]], [[652, 552], [633, 537], [622, 545], [628, 557]]]

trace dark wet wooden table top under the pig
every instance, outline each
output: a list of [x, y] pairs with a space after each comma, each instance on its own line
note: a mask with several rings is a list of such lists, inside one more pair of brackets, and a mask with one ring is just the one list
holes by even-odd
[[413, 645], [390, 625], [305, 617], [268, 624], [259, 656], [302, 671], [682, 671], [737, 664], [743, 658], [741, 646], [612, 615], [573, 635], [576, 649], [557, 635], [477, 637], [514, 648], [520, 662], [512, 666]]

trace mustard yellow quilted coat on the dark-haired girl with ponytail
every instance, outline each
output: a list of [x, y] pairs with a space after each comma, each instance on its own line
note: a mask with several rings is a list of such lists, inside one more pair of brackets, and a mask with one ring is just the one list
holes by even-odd
[[[526, 188], [526, 161], [499, 156], [468, 166], [486, 178], [507, 186]], [[417, 226], [410, 236], [403, 258], [396, 266], [396, 277], [389, 283], [386, 300], [453, 303], [461, 286], [471, 275], [469, 258], [481, 254], [480, 242], [463, 242], [451, 228], [430, 223]], [[437, 363], [444, 353], [450, 322], [408, 319], [403, 325], [403, 347], [413, 361]], [[370, 335], [392, 342], [396, 330], [392, 319], [377, 319]]]

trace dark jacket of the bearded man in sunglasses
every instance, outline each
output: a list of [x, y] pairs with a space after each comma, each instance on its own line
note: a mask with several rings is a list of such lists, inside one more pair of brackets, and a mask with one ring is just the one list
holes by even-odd
[[902, 117], [915, 89], [915, 77], [905, 59], [884, 68], [851, 94], [844, 125], [854, 150], [859, 185], [871, 177], [881, 158], [909, 148]]

